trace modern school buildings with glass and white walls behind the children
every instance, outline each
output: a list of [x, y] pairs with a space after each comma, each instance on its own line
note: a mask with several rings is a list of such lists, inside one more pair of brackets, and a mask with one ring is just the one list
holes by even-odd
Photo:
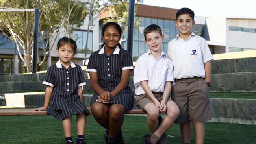
[[[133, 61], [136, 61], [140, 55], [148, 50], [148, 46], [144, 42], [143, 31], [150, 24], [157, 24], [162, 28], [165, 35], [163, 51], [166, 52], [168, 42], [178, 34], [178, 30], [175, 27], [177, 11], [178, 9], [148, 5], [139, 5], [137, 7], [135, 18], [140, 19], [141, 23], [134, 30]], [[73, 61], [80, 66], [83, 65], [85, 57], [88, 59], [91, 53], [98, 50], [103, 42], [101, 38], [103, 20], [92, 22], [88, 21], [88, 19], [89, 17], [85, 19], [83, 26], [76, 28], [72, 34], [72, 38], [78, 46], [78, 53], [73, 58]], [[88, 26], [89, 31], [87, 30]], [[195, 16], [195, 26], [192, 31], [206, 39], [212, 54], [256, 49], [256, 17], [208, 18]], [[87, 32], [89, 32], [88, 44], [87, 49], [85, 49]], [[63, 35], [63, 30], [60, 30], [56, 41]], [[56, 43], [50, 44], [55, 45], [55, 47], [50, 51], [47, 61], [41, 70], [46, 70], [48, 66], [58, 61], [55, 49]], [[122, 47], [127, 49], [127, 31], [124, 34]], [[0, 68], [1, 75], [22, 73], [22, 61], [19, 58], [16, 45], [4, 37], [0, 37]]]

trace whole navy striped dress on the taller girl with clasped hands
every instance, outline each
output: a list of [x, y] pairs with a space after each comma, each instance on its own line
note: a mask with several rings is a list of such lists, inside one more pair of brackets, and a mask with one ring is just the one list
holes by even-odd
[[[104, 47], [93, 52], [89, 58], [87, 72], [96, 72], [98, 74], [98, 83], [100, 87], [111, 92], [121, 81], [122, 70], [133, 70], [132, 57], [127, 50], [115, 48], [115, 51], [107, 55]], [[91, 106], [96, 102], [98, 94], [95, 92], [91, 99]], [[121, 90], [109, 103], [121, 104], [126, 111], [134, 106], [134, 94], [130, 87]]]

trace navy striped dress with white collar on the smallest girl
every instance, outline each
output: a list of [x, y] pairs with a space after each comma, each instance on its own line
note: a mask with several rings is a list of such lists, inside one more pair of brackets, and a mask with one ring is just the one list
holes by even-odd
[[53, 87], [48, 114], [57, 120], [63, 120], [73, 114], [86, 115], [89, 111], [77, 94], [78, 87], [85, 85], [82, 69], [72, 61], [68, 69], [61, 65], [60, 61], [50, 66], [47, 70], [43, 84]]

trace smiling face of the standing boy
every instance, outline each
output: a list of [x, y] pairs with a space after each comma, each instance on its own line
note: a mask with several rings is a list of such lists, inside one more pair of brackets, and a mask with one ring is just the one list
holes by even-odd
[[195, 21], [189, 16], [189, 14], [182, 14], [175, 21], [175, 26], [180, 32], [181, 38], [188, 38], [191, 35], [192, 27], [194, 26]]

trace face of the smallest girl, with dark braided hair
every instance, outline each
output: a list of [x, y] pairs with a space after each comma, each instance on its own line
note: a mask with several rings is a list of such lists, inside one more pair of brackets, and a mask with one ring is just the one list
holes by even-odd
[[76, 54], [69, 44], [60, 46], [59, 49], [56, 50], [56, 53], [59, 55], [59, 60], [62, 65], [69, 64], [72, 57]]

